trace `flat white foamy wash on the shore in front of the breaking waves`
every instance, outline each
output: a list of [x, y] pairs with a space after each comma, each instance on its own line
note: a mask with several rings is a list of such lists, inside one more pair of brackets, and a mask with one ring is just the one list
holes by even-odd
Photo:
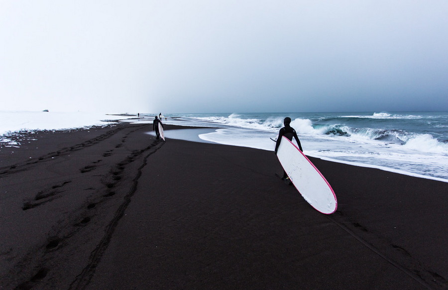
[[[217, 129], [215, 132], [201, 134], [199, 137], [209, 142], [264, 150], [273, 150], [275, 146], [275, 143], [268, 139], [274, 138], [274, 135], [244, 129]], [[316, 138], [311, 135], [302, 135], [300, 141], [304, 153], [313, 157], [448, 181], [448, 156], [446, 155], [412, 153], [402, 145], [388, 145], [380, 142], [351, 143], [328, 136]]]

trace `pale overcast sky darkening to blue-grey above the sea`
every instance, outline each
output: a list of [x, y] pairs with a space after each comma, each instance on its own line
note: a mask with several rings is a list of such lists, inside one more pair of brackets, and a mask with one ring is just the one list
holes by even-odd
[[447, 0], [1, 0], [1, 110], [448, 111]]

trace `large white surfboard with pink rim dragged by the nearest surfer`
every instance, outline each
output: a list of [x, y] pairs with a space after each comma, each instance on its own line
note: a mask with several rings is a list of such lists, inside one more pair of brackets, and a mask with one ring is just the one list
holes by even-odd
[[336, 194], [330, 183], [310, 159], [284, 136], [277, 157], [296, 189], [312, 207], [325, 214], [336, 211]]

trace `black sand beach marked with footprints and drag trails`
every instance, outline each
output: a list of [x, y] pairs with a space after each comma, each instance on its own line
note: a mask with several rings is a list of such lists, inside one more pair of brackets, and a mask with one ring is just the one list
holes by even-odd
[[448, 183], [310, 158], [324, 215], [273, 152], [151, 128], [0, 149], [0, 289], [448, 289]]

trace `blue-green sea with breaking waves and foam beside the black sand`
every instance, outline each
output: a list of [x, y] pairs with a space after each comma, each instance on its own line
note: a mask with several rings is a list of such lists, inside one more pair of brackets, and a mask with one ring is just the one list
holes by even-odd
[[[207, 142], [265, 150], [274, 149], [270, 138], [276, 139], [283, 119], [290, 117], [291, 127], [299, 135], [307, 155], [448, 182], [448, 112], [167, 114], [165, 117], [167, 124], [216, 128], [198, 134]], [[164, 118], [162, 121], [165, 122]]]

